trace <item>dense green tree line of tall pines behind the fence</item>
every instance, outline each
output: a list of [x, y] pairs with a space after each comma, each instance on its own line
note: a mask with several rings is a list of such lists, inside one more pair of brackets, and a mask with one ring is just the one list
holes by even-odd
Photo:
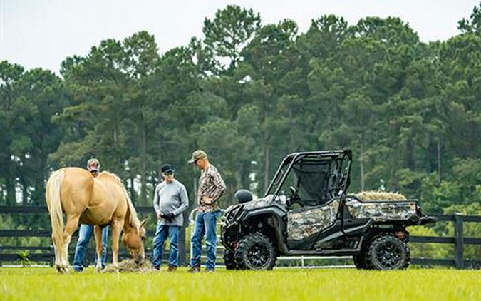
[[91, 157], [138, 205], [175, 165], [193, 204], [187, 160], [201, 148], [225, 208], [239, 188], [263, 195], [288, 153], [351, 148], [351, 192], [481, 213], [480, 24], [481, 4], [457, 36], [424, 43], [395, 17], [325, 15], [302, 33], [231, 5], [162, 54], [140, 31], [66, 58], [60, 75], [1, 61], [0, 204], [43, 205], [49, 173]]

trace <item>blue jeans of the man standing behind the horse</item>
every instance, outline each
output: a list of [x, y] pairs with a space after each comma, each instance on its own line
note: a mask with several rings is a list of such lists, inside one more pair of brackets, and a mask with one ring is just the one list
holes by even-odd
[[[90, 237], [92, 237], [93, 225], [81, 224], [78, 230], [78, 240], [75, 248], [75, 256], [73, 257], [73, 270], [81, 272], [83, 270], [83, 259], [86, 257], [87, 245]], [[107, 236], [108, 227], [102, 230], [102, 268], [105, 267], [105, 258], [107, 258]], [[97, 265], [97, 252], [95, 252], [95, 265]]]

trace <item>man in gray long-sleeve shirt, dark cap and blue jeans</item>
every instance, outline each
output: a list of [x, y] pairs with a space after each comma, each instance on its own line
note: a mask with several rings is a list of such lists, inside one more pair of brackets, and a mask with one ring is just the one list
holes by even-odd
[[157, 230], [154, 237], [152, 265], [160, 270], [164, 242], [169, 237], [169, 267], [167, 271], [177, 270], [179, 261], [179, 231], [182, 227], [182, 212], [189, 207], [185, 186], [175, 180], [175, 168], [166, 164], [161, 168], [164, 181], [157, 185], [154, 193], [154, 210], [157, 215]]

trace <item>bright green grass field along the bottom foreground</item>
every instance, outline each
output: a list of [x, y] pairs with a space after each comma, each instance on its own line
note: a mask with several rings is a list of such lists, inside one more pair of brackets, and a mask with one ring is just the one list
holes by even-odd
[[0, 267], [0, 300], [481, 300], [481, 271], [291, 270], [58, 275]]

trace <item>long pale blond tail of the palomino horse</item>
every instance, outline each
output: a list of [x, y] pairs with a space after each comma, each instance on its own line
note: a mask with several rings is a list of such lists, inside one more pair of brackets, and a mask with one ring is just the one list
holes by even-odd
[[59, 245], [63, 245], [63, 213], [60, 198], [61, 183], [65, 173], [63, 170], [57, 170], [48, 178], [45, 191], [48, 212], [52, 223], [52, 238]]

